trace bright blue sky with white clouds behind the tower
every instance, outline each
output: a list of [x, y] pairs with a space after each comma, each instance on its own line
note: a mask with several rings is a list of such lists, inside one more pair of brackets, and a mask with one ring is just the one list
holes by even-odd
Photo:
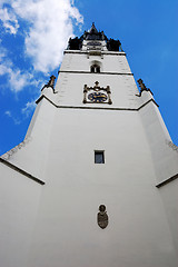
[[135, 79], [152, 90], [178, 145], [177, 13], [177, 0], [1, 0], [0, 154], [23, 140], [69, 37], [81, 36], [93, 21], [121, 41]]

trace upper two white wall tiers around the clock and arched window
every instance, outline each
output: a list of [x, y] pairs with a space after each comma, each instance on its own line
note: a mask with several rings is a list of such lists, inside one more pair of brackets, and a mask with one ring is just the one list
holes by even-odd
[[[101, 66], [100, 73], [90, 73], [90, 66], [95, 61]], [[71, 53], [66, 51], [60, 71], [62, 72], [56, 85], [58, 93], [55, 101], [57, 105], [90, 107], [89, 103], [82, 103], [83, 86], [93, 87], [95, 82], [99, 81], [100, 87], [110, 86], [112, 107], [134, 108], [138, 106], [136, 97], [138, 89], [125, 52], [113, 55], [103, 52], [103, 58], [101, 56], [88, 58], [85, 52]], [[92, 103], [92, 107], [95, 106], [98, 107], [98, 103]], [[110, 106], [101, 103], [99, 107], [110, 108]]]

